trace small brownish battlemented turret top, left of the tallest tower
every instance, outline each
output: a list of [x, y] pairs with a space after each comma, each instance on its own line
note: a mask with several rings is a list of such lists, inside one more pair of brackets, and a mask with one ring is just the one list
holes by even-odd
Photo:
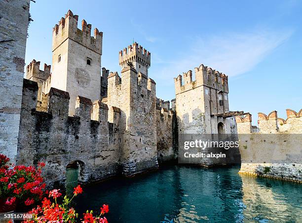
[[[42, 82], [50, 75], [51, 65], [44, 64], [44, 70], [40, 70], [40, 61], [35, 59], [26, 67], [26, 78]], [[38, 80], [39, 79], [39, 80]]]

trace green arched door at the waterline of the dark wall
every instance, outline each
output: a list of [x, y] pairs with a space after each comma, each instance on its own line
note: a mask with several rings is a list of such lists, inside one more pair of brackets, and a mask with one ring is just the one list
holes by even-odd
[[72, 193], [74, 187], [82, 180], [83, 166], [82, 161], [73, 161], [66, 166], [66, 192]]

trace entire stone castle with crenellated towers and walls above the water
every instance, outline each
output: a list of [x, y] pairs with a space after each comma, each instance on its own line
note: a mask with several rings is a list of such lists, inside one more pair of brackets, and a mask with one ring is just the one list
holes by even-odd
[[[24, 28], [26, 24], [17, 25]], [[77, 182], [86, 184], [157, 169], [179, 158], [184, 136], [221, 141], [236, 138], [237, 133], [255, 133], [249, 113], [229, 111], [227, 75], [200, 65], [195, 68], [195, 80], [192, 71], [177, 76], [176, 97], [170, 108], [169, 101], [156, 98], [156, 83], [148, 73], [149, 51], [136, 42], [129, 45], [119, 51], [120, 74], [109, 72], [101, 67], [103, 33], [95, 28], [91, 36], [92, 25], [85, 20], [81, 29], [77, 25], [78, 16], [69, 10], [54, 26], [52, 65], [44, 64], [43, 70], [40, 62], [33, 60], [23, 79], [22, 60], [9, 59], [15, 62], [15, 73], [22, 83], [9, 87], [11, 80], [7, 80], [7, 89], [18, 96], [8, 102], [18, 100], [14, 108], [0, 107], [0, 121], [5, 120], [1, 123], [5, 131], [0, 133], [4, 136], [0, 153], [19, 165], [45, 162], [43, 174], [49, 187], [65, 187], [71, 171], [76, 171]], [[24, 43], [24, 38], [20, 41]], [[6, 58], [3, 55], [0, 57]], [[274, 114], [260, 115], [260, 130], [301, 130], [301, 119], [297, 122], [301, 111], [292, 113], [296, 119], [283, 122], [276, 114], [276, 118], [272, 118]], [[12, 127], [14, 134], [5, 137]], [[212, 166], [240, 162], [240, 155], [242, 160], [250, 155], [242, 149], [244, 142], [242, 139], [240, 153], [238, 149], [225, 151], [227, 159], [186, 163]], [[255, 168], [248, 168], [243, 165], [242, 172], [256, 173]]]

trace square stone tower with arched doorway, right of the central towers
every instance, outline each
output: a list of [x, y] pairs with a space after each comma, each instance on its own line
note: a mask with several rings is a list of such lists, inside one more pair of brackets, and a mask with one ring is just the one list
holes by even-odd
[[[195, 80], [192, 71], [174, 78], [176, 103], [175, 111], [178, 122], [179, 145], [184, 141], [204, 140], [221, 141], [236, 131], [236, 112], [229, 112], [227, 75], [203, 66], [195, 68]], [[189, 139], [187, 138], [189, 137]], [[180, 147], [181, 148], [181, 147]], [[209, 149], [194, 148], [192, 153], [211, 152]], [[217, 153], [225, 149], [216, 149]], [[184, 157], [184, 149], [179, 150], [179, 157]], [[233, 162], [238, 158], [239, 149], [229, 149], [227, 159], [179, 159], [179, 162], [196, 163], [205, 166]]]

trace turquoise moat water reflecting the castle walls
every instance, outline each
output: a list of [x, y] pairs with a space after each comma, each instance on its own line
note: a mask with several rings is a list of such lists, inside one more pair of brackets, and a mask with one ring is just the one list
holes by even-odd
[[297, 222], [302, 186], [239, 175], [239, 167], [171, 166], [84, 188], [78, 213], [109, 204], [110, 223]]

